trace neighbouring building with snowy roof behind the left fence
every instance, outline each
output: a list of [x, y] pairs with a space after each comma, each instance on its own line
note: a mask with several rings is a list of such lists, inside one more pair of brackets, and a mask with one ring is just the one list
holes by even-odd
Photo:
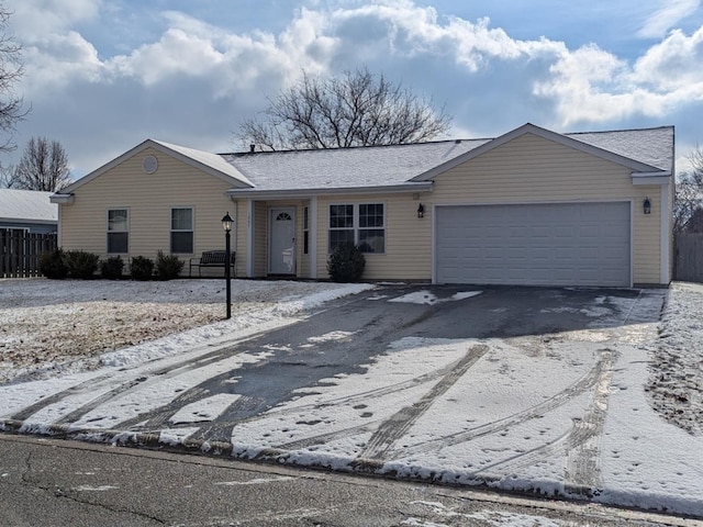
[[51, 201], [52, 192], [0, 189], [0, 228], [30, 233], [55, 233], [58, 205]]

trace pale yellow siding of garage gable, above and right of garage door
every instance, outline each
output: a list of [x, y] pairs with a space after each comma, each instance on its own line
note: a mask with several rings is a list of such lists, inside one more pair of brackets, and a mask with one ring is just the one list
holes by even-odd
[[[525, 134], [435, 178], [427, 204], [633, 202], [635, 283], [659, 283], [660, 187], [633, 186], [632, 170]], [[643, 214], [649, 197], [652, 214]]]

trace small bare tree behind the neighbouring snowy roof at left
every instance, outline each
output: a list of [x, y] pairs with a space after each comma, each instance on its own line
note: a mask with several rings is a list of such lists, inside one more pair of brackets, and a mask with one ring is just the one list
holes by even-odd
[[71, 181], [68, 156], [60, 143], [32, 137], [5, 184], [12, 189], [56, 192]]

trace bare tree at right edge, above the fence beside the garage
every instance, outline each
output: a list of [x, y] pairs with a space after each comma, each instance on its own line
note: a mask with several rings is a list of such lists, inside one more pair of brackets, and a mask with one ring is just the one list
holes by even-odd
[[673, 205], [676, 233], [703, 233], [703, 147], [687, 156], [691, 170], [679, 175]]

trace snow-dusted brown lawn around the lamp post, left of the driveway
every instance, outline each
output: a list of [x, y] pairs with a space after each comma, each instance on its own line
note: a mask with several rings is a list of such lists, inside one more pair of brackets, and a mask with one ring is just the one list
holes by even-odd
[[[289, 321], [370, 285], [233, 280], [0, 280], [0, 384], [145, 362]], [[163, 338], [167, 337], [167, 338]]]

